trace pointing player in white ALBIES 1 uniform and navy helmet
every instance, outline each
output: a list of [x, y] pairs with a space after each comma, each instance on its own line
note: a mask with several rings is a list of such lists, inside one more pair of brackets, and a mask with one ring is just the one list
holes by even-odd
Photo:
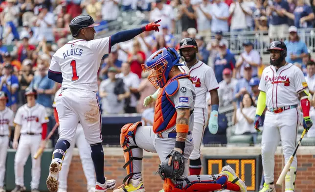
[[48, 78], [62, 83], [62, 91], [56, 97], [60, 137], [49, 166], [46, 181], [49, 192], [56, 192], [58, 189], [59, 170], [65, 153], [75, 137], [79, 121], [91, 146], [91, 158], [96, 173], [96, 192], [105, 192], [115, 187], [115, 180], [107, 180], [104, 177], [102, 123], [96, 96], [97, 72], [102, 57], [111, 52], [114, 44], [128, 41], [144, 31], [157, 31], [158, 22], [95, 40], [94, 26], [99, 24], [95, 24], [91, 16], [81, 15], [70, 22], [70, 32], [75, 39], [56, 51], [48, 71]]

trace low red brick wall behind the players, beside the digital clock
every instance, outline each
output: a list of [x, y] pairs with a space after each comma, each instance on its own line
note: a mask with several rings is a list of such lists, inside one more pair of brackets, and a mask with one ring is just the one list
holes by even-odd
[[[315, 192], [315, 155], [298, 155], [298, 168], [295, 192]], [[275, 156], [275, 176], [277, 179], [282, 170], [281, 155]], [[105, 176], [116, 179], [117, 186], [121, 185], [126, 176], [126, 171], [122, 168], [125, 164], [122, 155], [105, 156]], [[162, 189], [163, 182], [156, 175], [159, 159], [153, 154], [143, 158], [143, 178], [147, 192], [158, 192]], [[313, 166], [314, 165], [314, 166]], [[275, 180], [276, 182], [276, 180]], [[74, 155], [68, 175], [68, 192], [86, 192], [86, 179], [81, 166], [80, 157]], [[277, 189], [281, 192], [281, 189]]]

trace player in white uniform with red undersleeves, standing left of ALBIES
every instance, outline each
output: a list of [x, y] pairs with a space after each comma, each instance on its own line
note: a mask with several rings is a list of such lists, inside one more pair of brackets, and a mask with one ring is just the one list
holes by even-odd
[[[29, 154], [32, 156], [32, 192], [39, 192], [38, 187], [41, 177], [41, 157], [34, 159], [34, 155], [40, 146], [45, 145], [48, 117], [45, 107], [36, 103], [36, 90], [25, 90], [27, 103], [22, 105], [14, 118], [15, 131], [13, 148], [17, 149], [14, 158], [14, 174], [16, 187], [12, 192], [25, 191], [24, 165]], [[20, 137], [21, 134], [21, 137]], [[20, 141], [18, 143], [20, 137]]]

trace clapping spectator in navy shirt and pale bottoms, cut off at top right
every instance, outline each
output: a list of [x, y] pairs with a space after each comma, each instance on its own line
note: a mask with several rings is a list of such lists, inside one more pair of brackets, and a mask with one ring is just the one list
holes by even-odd
[[270, 38], [284, 39], [287, 37], [289, 21], [283, 9], [289, 11], [289, 4], [286, 0], [270, 1], [270, 5], [267, 7], [266, 12], [270, 22], [268, 34]]

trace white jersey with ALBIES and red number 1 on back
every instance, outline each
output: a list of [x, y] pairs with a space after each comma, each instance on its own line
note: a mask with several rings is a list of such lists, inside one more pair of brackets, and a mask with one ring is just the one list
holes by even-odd
[[74, 39], [55, 52], [49, 70], [62, 73], [63, 88], [96, 92], [102, 57], [110, 52], [110, 37], [91, 41]]

